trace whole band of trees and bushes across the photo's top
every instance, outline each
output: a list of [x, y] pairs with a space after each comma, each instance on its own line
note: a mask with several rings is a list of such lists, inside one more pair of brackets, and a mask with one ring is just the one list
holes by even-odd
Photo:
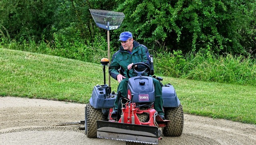
[[[99, 33], [106, 37], [94, 24], [90, 8], [124, 12], [121, 27], [110, 32], [112, 40], [121, 31], [131, 31], [137, 41], [148, 47], [158, 41], [168, 52], [256, 53], [254, 0], [1, 0], [0, 25], [16, 41], [38, 43], [42, 36], [52, 41], [53, 33], [72, 41], [79, 31], [87, 45]], [[111, 45], [118, 49], [116, 41]]]

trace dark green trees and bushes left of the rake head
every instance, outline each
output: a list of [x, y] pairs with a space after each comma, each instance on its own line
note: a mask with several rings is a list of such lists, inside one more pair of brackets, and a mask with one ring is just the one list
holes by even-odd
[[19, 42], [34, 39], [38, 43], [42, 36], [52, 41], [53, 33], [70, 40], [77, 36], [77, 30], [82, 40], [93, 42], [94, 35], [105, 31], [96, 27], [89, 8], [112, 9], [114, 6], [112, 0], [101, 0], [100, 4], [95, 0], [1, 0], [0, 25], [6, 27], [11, 39]]

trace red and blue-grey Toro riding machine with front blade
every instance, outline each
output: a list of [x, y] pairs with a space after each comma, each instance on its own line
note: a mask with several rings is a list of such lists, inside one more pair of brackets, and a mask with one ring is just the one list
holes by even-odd
[[[135, 70], [135, 65], [144, 65], [146, 69]], [[174, 87], [161, 83], [165, 114], [163, 120], [153, 108], [155, 96], [152, 77], [149, 76], [150, 73], [147, 76], [142, 75], [146, 70], [150, 71], [150, 67], [145, 63], [135, 63], [132, 70], [137, 76], [128, 75], [127, 98], [120, 101], [122, 114], [118, 120], [111, 118], [117, 94], [111, 93], [107, 84], [94, 86], [90, 103], [85, 108], [87, 137], [121, 140], [129, 145], [158, 144], [162, 139], [160, 135], [180, 136], [183, 130], [183, 109]], [[162, 80], [160, 77], [156, 79]]]

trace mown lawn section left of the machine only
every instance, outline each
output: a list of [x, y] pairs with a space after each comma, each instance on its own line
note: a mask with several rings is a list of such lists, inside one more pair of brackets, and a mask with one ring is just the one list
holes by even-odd
[[102, 67], [92, 63], [0, 49], [0, 95], [87, 102]]

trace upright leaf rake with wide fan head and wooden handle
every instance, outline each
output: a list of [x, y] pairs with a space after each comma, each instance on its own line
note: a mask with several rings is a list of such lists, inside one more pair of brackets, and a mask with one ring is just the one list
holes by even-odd
[[[110, 40], [109, 40], [109, 31], [118, 29], [124, 20], [124, 13], [114, 12], [108, 10], [95, 10], [89, 9], [92, 15], [92, 18], [96, 25], [102, 29], [108, 30], [108, 60], [110, 60]], [[109, 63], [110, 65], [110, 63]], [[110, 87], [110, 74], [108, 74], [108, 85]]]

